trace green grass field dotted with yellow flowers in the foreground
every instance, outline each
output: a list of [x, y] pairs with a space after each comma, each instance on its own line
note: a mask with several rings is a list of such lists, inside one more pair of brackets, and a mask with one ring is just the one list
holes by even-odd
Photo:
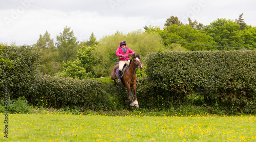
[[256, 141], [254, 115], [0, 114], [0, 141]]

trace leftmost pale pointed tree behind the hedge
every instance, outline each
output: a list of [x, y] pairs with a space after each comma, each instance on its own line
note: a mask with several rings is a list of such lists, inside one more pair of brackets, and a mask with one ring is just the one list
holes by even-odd
[[57, 73], [59, 68], [59, 63], [56, 62], [56, 57], [58, 55], [57, 49], [54, 46], [53, 38], [50, 37], [48, 31], [44, 35], [39, 35], [39, 39], [36, 42], [36, 46], [41, 50], [41, 73], [42, 75], [45, 75], [48, 73], [48, 75], [53, 76], [55, 73]]

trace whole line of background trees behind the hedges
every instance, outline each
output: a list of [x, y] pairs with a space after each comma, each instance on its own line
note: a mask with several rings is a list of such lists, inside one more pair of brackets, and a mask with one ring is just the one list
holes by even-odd
[[92, 33], [87, 41], [78, 41], [70, 27], [56, 36], [56, 43], [48, 31], [39, 35], [35, 46], [41, 50], [40, 73], [65, 78], [98, 78], [110, 75], [116, 59], [115, 51], [125, 40], [132, 50], [143, 57], [155, 51], [212, 51], [255, 49], [256, 28], [249, 26], [243, 13], [236, 20], [217, 19], [203, 25], [188, 18], [188, 24], [170, 16], [164, 28], [145, 26], [124, 34], [104, 36], [97, 40]]

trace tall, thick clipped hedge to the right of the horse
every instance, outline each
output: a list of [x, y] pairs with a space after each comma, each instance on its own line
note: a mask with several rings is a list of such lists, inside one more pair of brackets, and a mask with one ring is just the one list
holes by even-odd
[[151, 53], [145, 59], [147, 88], [165, 106], [178, 100], [231, 113], [255, 113], [255, 55], [256, 51]]

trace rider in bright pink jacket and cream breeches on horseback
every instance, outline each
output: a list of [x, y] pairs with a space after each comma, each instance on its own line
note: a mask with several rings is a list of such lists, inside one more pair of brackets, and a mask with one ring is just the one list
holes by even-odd
[[121, 78], [121, 72], [124, 64], [129, 65], [130, 63], [129, 53], [135, 54], [133, 50], [129, 49], [128, 46], [126, 46], [125, 41], [121, 41], [120, 45], [118, 45], [118, 49], [116, 50], [116, 56], [119, 57], [119, 72], [118, 72], [119, 79], [117, 80], [118, 84], [121, 83], [120, 78]]

